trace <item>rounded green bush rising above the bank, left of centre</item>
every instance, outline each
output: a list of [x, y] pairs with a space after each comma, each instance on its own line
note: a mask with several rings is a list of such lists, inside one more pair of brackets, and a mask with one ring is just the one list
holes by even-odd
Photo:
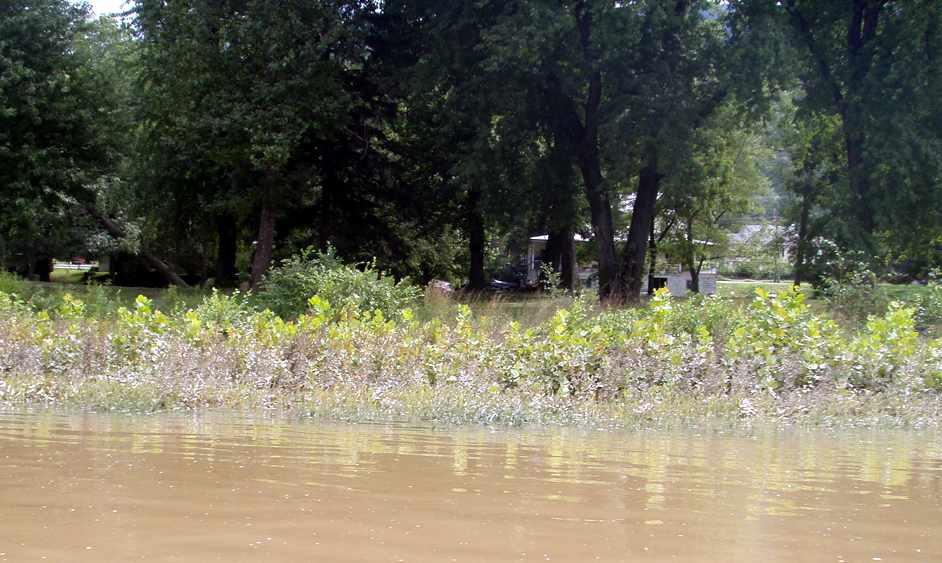
[[375, 263], [346, 265], [328, 248], [307, 249], [283, 260], [265, 276], [254, 301], [285, 319], [307, 311], [308, 300], [315, 295], [330, 303], [336, 314], [381, 311], [386, 318], [399, 318], [420, 294], [408, 279], [397, 282], [377, 270]]

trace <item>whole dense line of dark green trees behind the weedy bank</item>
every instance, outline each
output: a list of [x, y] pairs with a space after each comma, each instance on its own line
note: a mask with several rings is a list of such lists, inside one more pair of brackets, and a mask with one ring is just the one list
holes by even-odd
[[333, 246], [481, 288], [543, 232], [573, 287], [579, 233], [631, 301], [659, 248], [696, 280], [779, 189], [798, 277], [820, 240], [924, 275], [940, 24], [932, 0], [9, 0], [0, 261], [254, 287]]

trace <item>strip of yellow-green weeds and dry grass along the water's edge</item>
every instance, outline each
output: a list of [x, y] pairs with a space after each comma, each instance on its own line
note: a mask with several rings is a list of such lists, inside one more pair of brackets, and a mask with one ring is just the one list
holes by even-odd
[[239, 295], [96, 315], [0, 293], [0, 402], [284, 409], [330, 419], [671, 427], [936, 426], [942, 340], [892, 307], [859, 330], [788, 289], [748, 302], [587, 300], [525, 327], [440, 302], [397, 320], [313, 298], [283, 320]]

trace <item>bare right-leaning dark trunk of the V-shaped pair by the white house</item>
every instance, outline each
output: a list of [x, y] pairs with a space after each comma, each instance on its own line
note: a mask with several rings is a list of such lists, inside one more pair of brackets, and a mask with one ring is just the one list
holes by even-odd
[[651, 158], [638, 174], [638, 193], [634, 210], [631, 212], [631, 228], [628, 231], [628, 242], [625, 245], [619, 272], [621, 298], [628, 303], [636, 303], [641, 299], [644, 258], [648, 250], [648, 236], [657, 210], [659, 182], [657, 161]]

